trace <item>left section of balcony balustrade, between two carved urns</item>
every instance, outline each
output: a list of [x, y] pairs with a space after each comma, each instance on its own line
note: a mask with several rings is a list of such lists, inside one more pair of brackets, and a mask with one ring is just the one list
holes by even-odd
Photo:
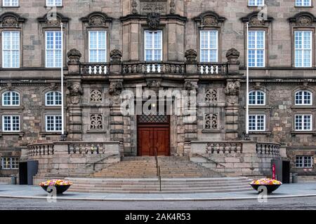
[[103, 76], [110, 72], [110, 63], [81, 63], [80, 73], [83, 76]]

